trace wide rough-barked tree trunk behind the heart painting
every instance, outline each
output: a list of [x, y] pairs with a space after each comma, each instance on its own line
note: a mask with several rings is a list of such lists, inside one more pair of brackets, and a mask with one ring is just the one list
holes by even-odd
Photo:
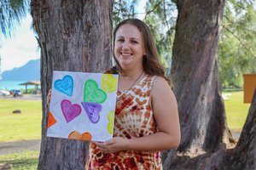
[[86, 144], [46, 137], [46, 95], [53, 71], [102, 72], [111, 66], [111, 0], [32, 0], [33, 26], [41, 48], [43, 100], [38, 169], [84, 169]]

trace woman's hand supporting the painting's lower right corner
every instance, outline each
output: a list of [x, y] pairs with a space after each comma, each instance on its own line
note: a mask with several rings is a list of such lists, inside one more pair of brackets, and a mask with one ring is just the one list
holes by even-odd
[[123, 139], [121, 137], [114, 137], [106, 142], [92, 142], [104, 153], [113, 153], [121, 150], [127, 150], [126, 144], [129, 139]]

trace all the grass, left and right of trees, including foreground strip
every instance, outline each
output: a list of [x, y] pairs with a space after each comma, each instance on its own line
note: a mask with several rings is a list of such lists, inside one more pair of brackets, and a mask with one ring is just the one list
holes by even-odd
[[[227, 122], [231, 131], [241, 131], [250, 104], [243, 104], [243, 92], [231, 94], [224, 100]], [[21, 114], [13, 114], [19, 109]], [[40, 100], [0, 99], [0, 142], [40, 139], [42, 106]], [[11, 164], [12, 169], [37, 169], [39, 151], [24, 151], [0, 156], [0, 164]]]

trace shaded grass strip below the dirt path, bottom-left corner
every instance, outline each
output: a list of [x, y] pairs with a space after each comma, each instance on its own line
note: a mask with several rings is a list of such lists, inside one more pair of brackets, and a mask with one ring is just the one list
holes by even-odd
[[24, 151], [21, 153], [0, 156], [0, 165], [9, 164], [13, 170], [38, 168], [39, 151]]

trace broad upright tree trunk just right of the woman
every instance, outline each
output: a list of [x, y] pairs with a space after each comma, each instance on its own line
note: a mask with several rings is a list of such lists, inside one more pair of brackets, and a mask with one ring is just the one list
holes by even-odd
[[163, 152], [164, 167], [219, 169], [224, 166], [226, 144], [234, 143], [226, 123], [216, 58], [224, 0], [179, 0], [177, 9], [171, 73], [182, 140], [179, 153]]

